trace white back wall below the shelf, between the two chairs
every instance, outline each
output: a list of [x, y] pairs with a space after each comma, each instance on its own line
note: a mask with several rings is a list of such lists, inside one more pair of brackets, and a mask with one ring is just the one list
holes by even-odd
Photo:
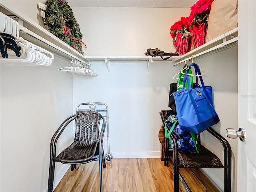
[[104, 63], [94, 64], [97, 77], [74, 75], [74, 105], [108, 104], [110, 151], [114, 158], [159, 157], [159, 112], [168, 108], [170, 63], [151, 64], [149, 74], [146, 62], [110, 65], [108, 73]]

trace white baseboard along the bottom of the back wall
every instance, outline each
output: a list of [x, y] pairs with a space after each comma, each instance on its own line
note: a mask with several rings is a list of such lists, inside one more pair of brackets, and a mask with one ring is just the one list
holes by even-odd
[[113, 158], [160, 158], [160, 151], [111, 152]]

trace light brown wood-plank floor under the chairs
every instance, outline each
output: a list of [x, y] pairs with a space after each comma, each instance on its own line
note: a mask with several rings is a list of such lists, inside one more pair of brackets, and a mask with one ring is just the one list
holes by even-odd
[[[104, 192], [173, 192], [172, 166], [160, 158], [113, 159], [102, 169]], [[218, 192], [198, 169], [180, 169], [193, 192]], [[76, 165], [66, 172], [54, 192], [98, 192], [98, 161]], [[186, 192], [180, 183], [180, 192]]]

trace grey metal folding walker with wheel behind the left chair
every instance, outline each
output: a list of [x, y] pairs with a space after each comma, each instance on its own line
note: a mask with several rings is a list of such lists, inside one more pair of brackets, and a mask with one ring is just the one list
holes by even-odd
[[[103, 107], [97, 108], [96, 105], [103, 106]], [[88, 108], [82, 108], [82, 106], [88, 106]], [[76, 107], [76, 112], [82, 112], [82, 111], [95, 111], [95, 112], [99, 112], [105, 118], [105, 122], [106, 122], [106, 125], [107, 125], [107, 142], [108, 142], [108, 153], [105, 154], [105, 159], [106, 159], [107, 162], [111, 162], [112, 159], [113, 159], [113, 156], [110, 153], [110, 147], [109, 147], [108, 105], [106, 103], [101, 103], [101, 102], [80, 103]]]

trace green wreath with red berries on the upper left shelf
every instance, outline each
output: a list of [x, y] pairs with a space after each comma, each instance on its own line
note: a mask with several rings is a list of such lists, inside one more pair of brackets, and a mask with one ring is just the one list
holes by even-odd
[[45, 4], [47, 6], [45, 22], [50, 32], [81, 54], [84, 54], [82, 46], [86, 48], [86, 44], [82, 41], [79, 24], [74, 17], [72, 8], [68, 5], [68, 1], [47, 0]]

